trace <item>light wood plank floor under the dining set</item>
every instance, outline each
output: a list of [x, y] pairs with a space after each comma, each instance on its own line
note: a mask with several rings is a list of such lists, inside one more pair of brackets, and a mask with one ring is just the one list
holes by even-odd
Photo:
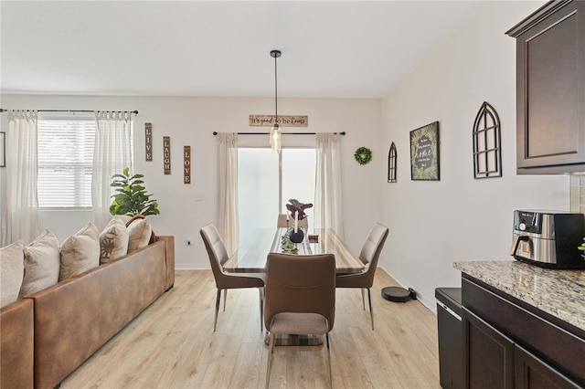
[[[337, 289], [331, 332], [334, 388], [439, 388], [436, 317], [419, 301], [382, 299], [396, 286], [378, 269], [376, 331], [359, 289]], [[61, 388], [256, 388], [266, 379], [258, 289], [229, 290], [213, 332], [211, 270], [176, 272], [175, 288], [144, 310]], [[323, 346], [275, 347], [271, 387], [327, 386]]]

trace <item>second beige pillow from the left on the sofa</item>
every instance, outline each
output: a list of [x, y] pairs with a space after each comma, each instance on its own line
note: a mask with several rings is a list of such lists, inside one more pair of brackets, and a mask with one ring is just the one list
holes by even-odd
[[58, 239], [48, 229], [24, 248], [25, 279], [20, 288], [23, 298], [58, 282], [60, 256]]

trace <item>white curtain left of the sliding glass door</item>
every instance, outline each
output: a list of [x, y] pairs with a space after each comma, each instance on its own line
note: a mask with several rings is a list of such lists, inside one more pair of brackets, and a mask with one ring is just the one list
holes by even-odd
[[231, 255], [239, 246], [238, 134], [218, 138], [218, 231]]

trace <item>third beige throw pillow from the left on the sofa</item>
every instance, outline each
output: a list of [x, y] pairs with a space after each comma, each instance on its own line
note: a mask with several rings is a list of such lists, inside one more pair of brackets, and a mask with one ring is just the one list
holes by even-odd
[[61, 271], [58, 279], [69, 279], [100, 266], [100, 232], [93, 223], [81, 228], [61, 245]]

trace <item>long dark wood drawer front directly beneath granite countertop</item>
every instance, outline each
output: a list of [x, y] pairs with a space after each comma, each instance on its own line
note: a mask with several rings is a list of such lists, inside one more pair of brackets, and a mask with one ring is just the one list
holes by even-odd
[[[480, 282], [480, 281], [478, 281]], [[462, 279], [463, 307], [504, 332], [559, 372], [585, 385], [585, 340], [470, 279]]]

